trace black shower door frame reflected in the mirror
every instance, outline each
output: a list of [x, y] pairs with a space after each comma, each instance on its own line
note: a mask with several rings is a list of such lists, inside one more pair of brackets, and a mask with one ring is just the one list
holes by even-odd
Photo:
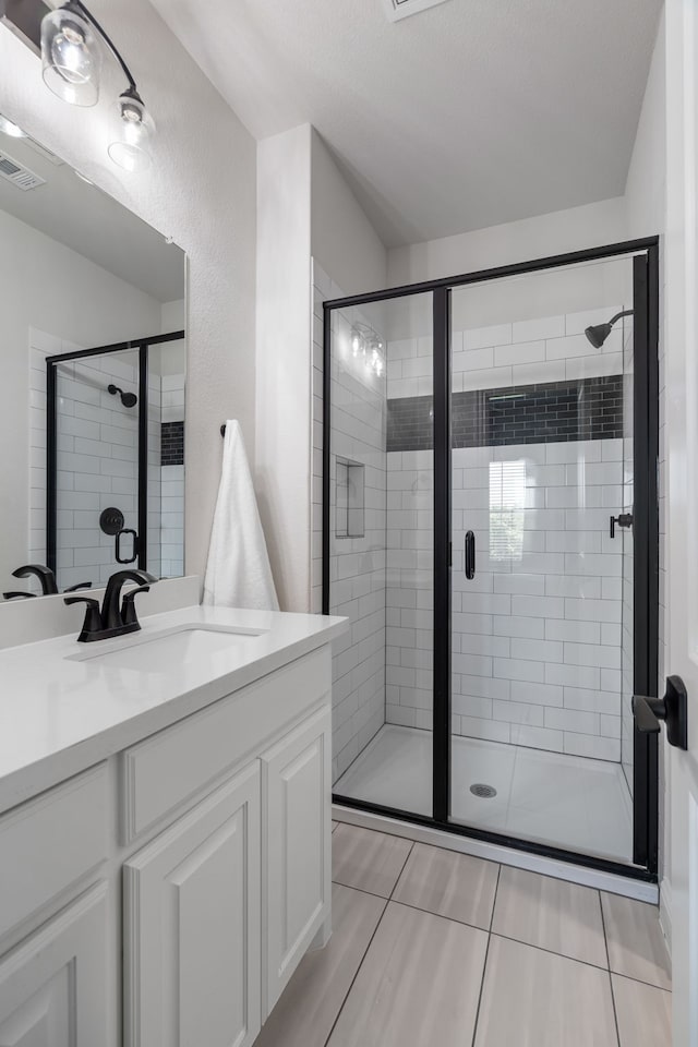
[[[56, 431], [58, 411], [56, 404], [56, 369], [71, 360], [85, 360], [88, 357], [107, 356], [111, 352], [124, 352], [128, 349], [139, 352], [139, 568], [147, 569], [147, 530], [148, 530], [148, 347], [161, 346], [168, 341], [181, 341], [184, 330], [171, 330], [165, 335], [152, 335], [149, 338], [134, 338], [131, 341], [117, 341], [110, 346], [94, 349], [76, 349], [74, 352], [60, 352], [46, 358], [46, 566], [53, 574], [57, 568], [57, 509], [58, 509], [58, 433]], [[145, 410], [143, 405], [145, 404]], [[141, 535], [144, 535], [141, 540]]]

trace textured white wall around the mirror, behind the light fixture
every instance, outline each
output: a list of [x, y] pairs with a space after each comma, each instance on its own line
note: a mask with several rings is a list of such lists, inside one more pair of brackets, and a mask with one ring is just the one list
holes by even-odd
[[189, 255], [186, 566], [203, 573], [220, 474], [220, 421], [240, 419], [254, 448], [255, 145], [149, 3], [94, 0], [158, 128], [149, 171], [106, 152], [121, 81], [107, 59], [94, 109], [56, 98], [39, 59], [0, 32], [2, 111]]

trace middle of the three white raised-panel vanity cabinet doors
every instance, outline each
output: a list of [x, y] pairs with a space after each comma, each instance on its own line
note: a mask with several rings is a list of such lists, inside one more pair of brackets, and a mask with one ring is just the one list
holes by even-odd
[[258, 762], [124, 865], [129, 1047], [248, 1047], [261, 1025]]

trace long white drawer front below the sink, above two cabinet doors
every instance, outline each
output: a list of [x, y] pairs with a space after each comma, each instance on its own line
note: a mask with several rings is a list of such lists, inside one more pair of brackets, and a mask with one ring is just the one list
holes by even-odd
[[[130, 843], [329, 693], [329, 647], [140, 742], [121, 757], [122, 840]], [[273, 731], [270, 730], [273, 725]]]

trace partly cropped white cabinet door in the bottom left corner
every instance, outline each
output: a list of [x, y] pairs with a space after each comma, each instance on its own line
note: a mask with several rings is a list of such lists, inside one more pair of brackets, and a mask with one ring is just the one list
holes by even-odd
[[2, 1047], [111, 1043], [107, 886], [87, 891], [0, 961]]

